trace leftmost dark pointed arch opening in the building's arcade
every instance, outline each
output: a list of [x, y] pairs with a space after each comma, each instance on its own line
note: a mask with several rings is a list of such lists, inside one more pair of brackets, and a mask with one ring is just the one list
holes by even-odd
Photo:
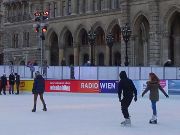
[[50, 47], [50, 65], [59, 65], [59, 47], [58, 47], [58, 37], [56, 33], [51, 35], [51, 47]]

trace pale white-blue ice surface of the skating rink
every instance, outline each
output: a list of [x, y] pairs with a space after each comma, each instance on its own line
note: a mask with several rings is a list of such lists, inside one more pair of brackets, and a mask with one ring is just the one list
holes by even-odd
[[116, 94], [45, 94], [48, 111], [32, 113], [33, 96], [0, 96], [0, 135], [180, 135], [180, 96], [164, 97], [157, 104], [158, 124], [148, 97], [130, 106], [131, 127], [124, 120]]

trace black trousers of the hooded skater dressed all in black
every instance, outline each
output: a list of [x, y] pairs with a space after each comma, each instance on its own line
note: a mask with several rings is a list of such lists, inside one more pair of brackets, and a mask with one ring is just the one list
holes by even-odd
[[131, 104], [132, 99], [133, 99], [133, 97], [132, 98], [128, 97], [128, 98], [123, 98], [121, 100], [121, 110], [122, 110], [122, 113], [123, 113], [125, 119], [129, 118], [128, 107]]

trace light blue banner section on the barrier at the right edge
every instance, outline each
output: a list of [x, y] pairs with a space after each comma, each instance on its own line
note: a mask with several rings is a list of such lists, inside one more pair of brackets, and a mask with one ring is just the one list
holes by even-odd
[[168, 80], [170, 94], [180, 94], [180, 80]]

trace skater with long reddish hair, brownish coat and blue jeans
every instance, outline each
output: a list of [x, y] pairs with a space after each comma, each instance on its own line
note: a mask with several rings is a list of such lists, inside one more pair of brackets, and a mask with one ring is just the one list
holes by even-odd
[[157, 109], [156, 109], [156, 103], [159, 101], [159, 91], [161, 92], [168, 98], [169, 96], [167, 93], [164, 91], [164, 89], [160, 85], [160, 80], [154, 73], [149, 73], [149, 81], [147, 82], [147, 87], [142, 93], [142, 97], [144, 94], [146, 94], [148, 91], [150, 91], [149, 94], [149, 99], [151, 100], [152, 104], [152, 110], [153, 110], [153, 115], [152, 118], [150, 119], [149, 123], [150, 124], [157, 124]]

